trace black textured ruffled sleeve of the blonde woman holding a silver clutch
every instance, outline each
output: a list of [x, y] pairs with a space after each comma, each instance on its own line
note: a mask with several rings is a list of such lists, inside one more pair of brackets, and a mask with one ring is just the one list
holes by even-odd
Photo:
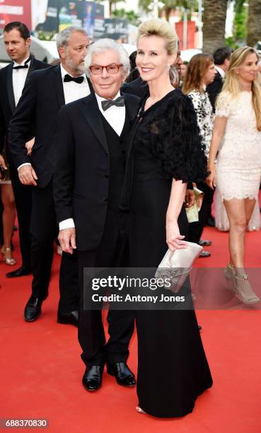
[[153, 123], [151, 132], [153, 155], [161, 159], [165, 177], [183, 182], [199, 182], [207, 177], [207, 158], [190, 98], [181, 92], [173, 98], [164, 115]]

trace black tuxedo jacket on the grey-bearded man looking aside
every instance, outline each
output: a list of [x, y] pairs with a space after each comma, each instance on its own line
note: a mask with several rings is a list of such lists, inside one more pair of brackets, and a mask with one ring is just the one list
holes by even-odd
[[[88, 81], [90, 90], [91, 81]], [[16, 168], [30, 162], [37, 174], [37, 186], [45, 187], [54, 174], [55, 132], [59, 110], [65, 104], [60, 66], [34, 71], [9, 124], [9, 148]], [[31, 123], [35, 125], [35, 144], [31, 157], [24, 142]]]

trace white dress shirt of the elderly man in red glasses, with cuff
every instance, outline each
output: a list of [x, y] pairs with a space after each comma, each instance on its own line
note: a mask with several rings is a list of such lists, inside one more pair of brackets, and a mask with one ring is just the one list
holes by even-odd
[[[102, 100], [106, 100], [105, 98], [102, 98], [101, 96], [97, 95], [95, 93], [98, 107], [102, 115], [105, 117], [107, 122], [110, 124], [110, 126], [115, 130], [116, 134], [119, 135], [122, 133], [122, 129], [124, 127], [125, 122], [125, 107], [117, 107], [116, 105], [112, 105], [108, 110], [103, 110], [102, 107]], [[117, 93], [115, 98], [113, 100], [117, 99], [120, 96], [120, 91]], [[74, 219], [64, 219], [64, 221], [61, 221], [59, 223], [59, 230], [64, 229], [72, 229], [74, 227]]]

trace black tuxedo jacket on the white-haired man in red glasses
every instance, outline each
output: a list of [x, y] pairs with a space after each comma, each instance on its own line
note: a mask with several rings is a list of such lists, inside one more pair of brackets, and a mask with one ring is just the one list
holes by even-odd
[[[121, 140], [139, 110], [139, 98], [124, 95]], [[79, 250], [94, 250], [103, 236], [108, 209], [110, 155], [95, 93], [64, 105], [59, 113], [54, 173], [57, 221], [73, 218]], [[128, 125], [126, 125], [128, 123]]]

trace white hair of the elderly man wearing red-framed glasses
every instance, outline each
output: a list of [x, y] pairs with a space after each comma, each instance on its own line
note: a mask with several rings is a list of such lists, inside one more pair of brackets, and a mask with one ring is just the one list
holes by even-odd
[[[119, 55], [119, 62], [122, 64], [122, 69], [124, 74], [129, 75], [129, 56], [127, 51], [121, 44], [117, 44], [113, 39], [98, 39], [93, 44], [88, 47], [88, 52], [85, 58], [85, 69], [86, 74], [90, 76], [90, 66], [93, 61], [93, 55], [99, 54], [100, 52], [106, 52], [108, 50], [113, 50]], [[123, 74], [122, 74], [123, 75]]]

